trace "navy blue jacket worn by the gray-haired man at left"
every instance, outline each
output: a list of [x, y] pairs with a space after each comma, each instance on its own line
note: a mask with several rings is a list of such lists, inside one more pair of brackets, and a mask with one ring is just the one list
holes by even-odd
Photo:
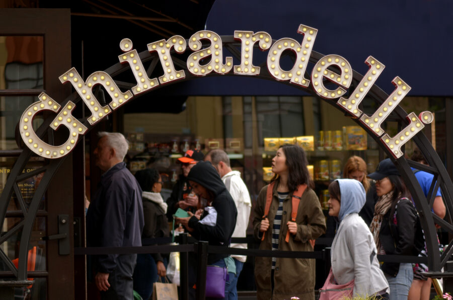
[[[101, 176], [96, 197], [88, 208], [88, 246], [141, 246], [143, 225], [141, 188], [125, 163], [116, 164]], [[111, 273], [118, 256], [99, 255], [98, 271]]]

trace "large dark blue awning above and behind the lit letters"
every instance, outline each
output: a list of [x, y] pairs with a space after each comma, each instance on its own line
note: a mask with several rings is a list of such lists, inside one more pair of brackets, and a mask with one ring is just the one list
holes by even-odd
[[[387, 93], [399, 76], [412, 87], [408, 96], [453, 95], [450, 0], [217, 0], [206, 29], [230, 36], [235, 30], [265, 31], [275, 40], [301, 41], [299, 24], [318, 29], [314, 51], [341, 55], [362, 74], [369, 55], [381, 61], [386, 68], [376, 84]], [[237, 76], [198, 79], [175, 90], [186, 95], [304, 94], [287, 85]]]

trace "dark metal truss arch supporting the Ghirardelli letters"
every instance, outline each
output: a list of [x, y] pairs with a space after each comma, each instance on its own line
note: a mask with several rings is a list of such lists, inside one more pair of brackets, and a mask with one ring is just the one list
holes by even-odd
[[[224, 48], [229, 49], [231, 54], [236, 57], [236, 59], [240, 60], [240, 52], [236, 49], [237, 47], [241, 47], [241, 44], [237, 41], [234, 40], [233, 36], [222, 36], [222, 45]], [[187, 42], [187, 41], [186, 41]], [[275, 40], [272, 41], [274, 43]], [[255, 45], [256, 47], [256, 45]], [[173, 51], [173, 50], [172, 50]], [[174, 51], [173, 51], [174, 54]], [[287, 54], [286, 54], [287, 55]], [[315, 63], [319, 59], [321, 59], [324, 55], [321, 53], [318, 53], [316, 51], [312, 51], [311, 56], [310, 56], [310, 63]], [[146, 73], [151, 74], [153, 73], [154, 69], [158, 65], [159, 57], [157, 54], [149, 53], [148, 51], [143, 51], [139, 53], [139, 57], [142, 62], [150, 61], [149, 67], [146, 71]], [[177, 57], [172, 57], [175, 66], [179, 66], [180, 68], [185, 69], [186, 77], [180, 81], [187, 81], [187, 80], [193, 80], [197, 78], [193, 74], [187, 71], [186, 67], [186, 62], [184, 60], [178, 59]], [[266, 79], [266, 80], [272, 80], [275, 81], [273, 77], [270, 76], [270, 74], [267, 72], [267, 67], [266, 67], [266, 61], [262, 62], [260, 64], [261, 70], [260, 74], [256, 76], [256, 78], [259, 79]], [[130, 70], [130, 66], [128, 64], [121, 64], [120, 62], [112, 65], [111, 67], [107, 68], [105, 72], [110, 74], [110, 76], [115, 77], [118, 74]], [[221, 76], [217, 73], [210, 73], [207, 76]], [[224, 76], [234, 76], [234, 73], [229, 73], [225, 74]], [[363, 76], [353, 70], [353, 83], [357, 84], [360, 82], [360, 80], [363, 78]], [[178, 81], [178, 82], [180, 82]], [[131, 87], [135, 86], [135, 82], [129, 83], [129, 82], [119, 82], [115, 81], [118, 87], [124, 88], [124, 89], [130, 89]], [[173, 84], [174, 82], [171, 82], [170, 84]], [[295, 85], [290, 84], [289, 82], [280, 82], [281, 84], [296, 87], [299, 89], [302, 89], [306, 91], [307, 93], [313, 94], [316, 96], [316, 94], [305, 88], [301, 88]], [[166, 86], [166, 85], [165, 85]], [[157, 86], [155, 89], [161, 88], [162, 85]], [[141, 95], [140, 95], [141, 96]], [[388, 97], [388, 95], [381, 90], [379, 87], [373, 85], [373, 87], [370, 89], [368, 92], [368, 97], [371, 97], [373, 100], [377, 101], [378, 103], [382, 104]], [[68, 101], [72, 101], [75, 104], [77, 104], [81, 100], [80, 96], [78, 95], [77, 92], [72, 93], [69, 97], [67, 97], [65, 100], [62, 101], [62, 105], [66, 104]], [[335, 101], [332, 100], [325, 100], [329, 104], [335, 106], [336, 108], [340, 109]], [[391, 114], [391, 117], [396, 119], [400, 125], [405, 125], [407, 124], [406, 120], [407, 113], [402, 109], [400, 106], [398, 106]], [[43, 136], [46, 131], [49, 132], [49, 136], [52, 136], [53, 132], [52, 130], [49, 129], [50, 122], [52, 121], [53, 117], [49, 117], [46, 120], [44, 120], [43, 125], [38, 129], [37, 134], [38, 136]], [[91, 126], [87, 119], [81, 120], [84, 125], [88, 127], [88, 130], [91, 130], [93, 126]], [[368, 134], [374, 138], [376, 141], [379, 143], [379, 137], [375, 136], [368, 128], [363, 126], [357, 119], [355, 119], [356, 123], [361, 126], [363, 129], [365, 129]], [[88, 132], [88, 131], [87, 131]], [[417, 211], [420, 214], [421, 218], [421, 223], [423, 227], [423, 231], [425, 233], [425, 238], [426, 238], [426, 244], [427, 244], [427, 250], [428, 250], [428, 267], [431, 271], [433, 272], [440, 272], [441, 268], [445, 265], [446, 261], [450, 257], [450, 255], [453, 253], [453, 241], [450, 241], [446, 251], [440, 256], [439, 249], [437, 246], [437, 235], [434, 227], [434, 219], [442, 228], [444, 228], [447, 232], [453, 233], [453, 223], [452, 223], [452, 213], [453, 213], [453, 201], [452, 197], [453, 195], [451, 194], [453, 192], [453, 184], [445, 170], [445, 167], [442, 164], [442, 161], [438, 157], [437, 153], [434, 151], [432, 145], [430, 144], [429, 140], [426, 138], [426, 136], [423, 134], [423, 132], [419, 132], [416, 136], [413, 137], [413, 140], [417, 144], [417, 146], [420, 148], [422, 153], [425, 155], [427, 162], [429, 163], [430, 167], [422, 166], [420, 164], [417, 164], [415, 162], [412, 162], [410, 160], [406, 160], [404, 157], [401, 157], [397, 160], [393, 159], [391, 153], [385, 148], [385, 151], [389, 155], [389, 157], [392, 158], [394, 163], [396, 164], [398, 170], [401, 172], [401, 175], [405, 181], [405, 183], [408, 185], [409, 190], [414, 198], [415, 204], [417, 206]], [[18, 160], [16, 161], [10, 176], [8, 177], [7, 183], [5, 185], [5, 189], [2, 192], [2, 195], [0, 195], [0, 226], [3, 226], [5, 216], [6, 216], [6, 211], [8, 207], [8, 203], [11, 199], [13, 191], [18, 193], [19, 189], [17, 188], [17, 182], [21, 181], [24, 179], [24, 176], [21, 176], [22, 169], [26, 165], [26, 163], [30, 160], [32, 153], [28, 148], [25, 148], [22, 154], [19, 156]], [[36, 190], [32, 201], [30, 203], [30, 206], [28, 208], [28, 211], [25, 211], [25, 205], [21, 205], [24, 213], [24, 219], [22, 222], [20, 222], [16, 227], [11, 229], [9, 232], [3, 234], [0, 236], [0, 244], [2, 244], [8, 237], [13, 235], [15, 232], [18, 230], [22, 229], [22, 236], [21, 236], [21, 244], [20, 244], [20, 250], [19, 250], [19, 267], [16, 268], [11, 260], [7, 257], [7, 255], [0, 249], [0, 259], [10, 268], [12, 271], [12, 276], [15, 277], [16, 282], [24, 282], [24, 285], [28, 285], [29, 281], [27, 281], [27, 264], [25, 263], [27, 261], [27, 256], [28, 256], [28, 246], [29, 246], [29, 240], [30, 240], [30, 235], [31, 235], [31, 230], [32, 230], [32, 225], [35, 220], [36, 212], [39, 206], [39, 202], [42, 199], [42, 196], [44, 195], [44, 192], [47, 190], [47, 186], [50, 184], [51, 179], [53, 178], [53, 175], [55, 172], [58, 170], [62, 162], [64, 161], [65, 157], [59, 160], [50, 160], [49, 164], [45, 166], [44, 168], [40, 169], [40, 171], [45, 171], [44, 177]], [[446, 210], [447, 210], [447, 218], [449, 219], [448, 221], [440, 220], [438, 217], [433, 216], [433, 213], [431, 212], [431, 206], [432, 206], [432, 199], [433, 197], [428, 196], [428, 199], [423, 195], [422, 189], [419, 186], [419, 183], [417, 179], [415, 178], [413, 172], [410, 169], [410, 166], [417, 167], [418, 169], [425, 170], [426, 172], [434, 174], [434, 181], [437, 180], [437, 183], [433, 183], [431, 187], [431, 191], [435, 190], [436, 187], [440, 186], [443, 194], [443, 199], [446, 204]], [[30, 175], [32, 176], [32, 175]], [[20, 191], [19, 191], [20, 193]], [[18, 195], [18, 198], [21, 198], [21, 196]]]

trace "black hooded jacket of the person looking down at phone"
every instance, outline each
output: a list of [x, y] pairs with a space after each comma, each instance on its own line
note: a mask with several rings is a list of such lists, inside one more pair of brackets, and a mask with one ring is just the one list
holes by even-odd
[[[214, 194], [214, 200], [210, 203], [217, 215], [215, 225], [203, 223], [203, 218], [208, 216], [207, 211], [203, 213], [201, 219], [192, 216], [189, 219], [189, 227], [193, 228], [191, 235], [199, 241], [207, 241], [212, 246], [230, 245], [230, 239], [236, 227], [238, 211], [235, 202], [228, 190], [226, 190], [220, 176], [210, 162], [199, 162], [189, 172], [187, 179], [198, 183], [205, 189]], [[211, 209], [212, 211], [212, 209]], [[212, 218], [212, 215], [209, 216]], [[212, 264], [222, 258], [228, 257], [227, 254], [209, 254], [208, 264]]]

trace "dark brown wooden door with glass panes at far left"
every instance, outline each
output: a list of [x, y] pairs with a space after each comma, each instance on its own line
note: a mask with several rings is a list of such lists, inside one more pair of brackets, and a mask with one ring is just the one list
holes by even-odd
[[[70, 11], [1, 9], [0, 28], [0, 205], [5, 213], [0, 280], [20, 277], [21, 268], [27, 268], [33, 284], [14, 287], [15, 299], [74, 299], [72, 159], [59, 166], [47, 190], [37, 198], [40, 183], [43, 187], [49, 183], [43, 177], [48, 162], [28, 158], [13, 192], [5, 194], [13, 166], [23, 157], [25, 145], [16, 139], [23, 111], [44, 91], [56, 102], [70, 93], [58, 81], [71, 65]], [[29, 126], [38, 128], [45, 117], [37, 116]], [[38, 201], [32, 201], [35, 198]], [[21, 245], [27, 242], [29, 247], [23, 249]], [[24, 251], [28, 252], [26, 264], [20, 259]]]

